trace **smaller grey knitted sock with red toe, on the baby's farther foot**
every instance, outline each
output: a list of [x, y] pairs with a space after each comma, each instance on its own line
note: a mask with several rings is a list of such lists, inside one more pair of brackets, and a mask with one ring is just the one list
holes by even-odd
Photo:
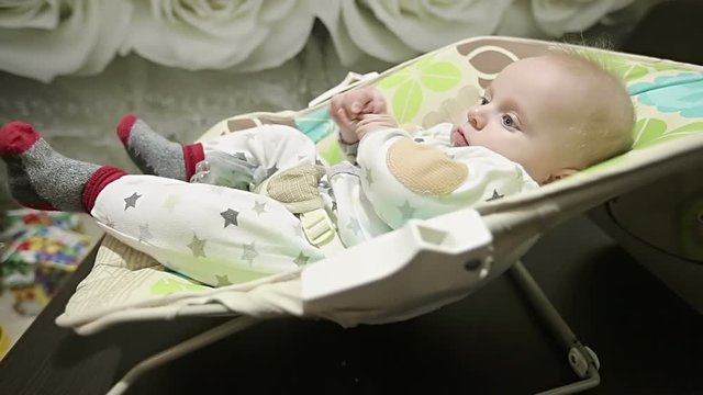
[[189, 181], [196, 172], [196, 165], [204, 159], [202, 144], [181, 146], [169, 142], [131, 114], [120, 121], [118, 136], [145, 174]]

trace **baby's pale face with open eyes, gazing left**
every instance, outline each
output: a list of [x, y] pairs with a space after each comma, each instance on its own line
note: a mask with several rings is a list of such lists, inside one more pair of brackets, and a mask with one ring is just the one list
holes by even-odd
[[507, 66], [451, 131], [454, 146], [481, 146], [521, 163], [535, 181], [563, 166], [563, 138], [593, 105], [557, 60], [535, 57]]

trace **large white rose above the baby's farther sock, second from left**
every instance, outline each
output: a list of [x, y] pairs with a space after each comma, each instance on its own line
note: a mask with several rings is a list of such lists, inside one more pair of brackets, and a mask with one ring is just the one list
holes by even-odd
[[281, 65], [308, 41], [308, 0], [152, 0], [135, 3], [122, 53], [189, 70]]

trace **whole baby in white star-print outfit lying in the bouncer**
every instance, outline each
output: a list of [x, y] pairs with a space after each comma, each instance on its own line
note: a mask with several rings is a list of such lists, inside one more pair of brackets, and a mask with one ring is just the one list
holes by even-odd
[[165, 267], [220, 286], [324, 258], [327, 240], [308, 213], [325, 213], [353, 246], [411, 218], [538, 188], [623, 153], [634, 122], [622, 83], [569, 54], [507, 66], [467, 105], [464, 122], [412, 136], [373, 88], [330, 105], [350, 159], [331, 168], [288, 126], [180, 146], [131, 115], [118, 135], [156, 176], [66, 158], [20, 122], [0, 129], [0, 157], [21, 204], [87, 212]]

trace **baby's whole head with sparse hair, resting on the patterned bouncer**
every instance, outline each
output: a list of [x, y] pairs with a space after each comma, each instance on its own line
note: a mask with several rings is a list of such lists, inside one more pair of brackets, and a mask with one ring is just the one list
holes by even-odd
[[517, 60], [455, 125], [455, 146], [482, 146], [544, 184], [626, 151], [635, 111], [623, 83], [568, 52]]

